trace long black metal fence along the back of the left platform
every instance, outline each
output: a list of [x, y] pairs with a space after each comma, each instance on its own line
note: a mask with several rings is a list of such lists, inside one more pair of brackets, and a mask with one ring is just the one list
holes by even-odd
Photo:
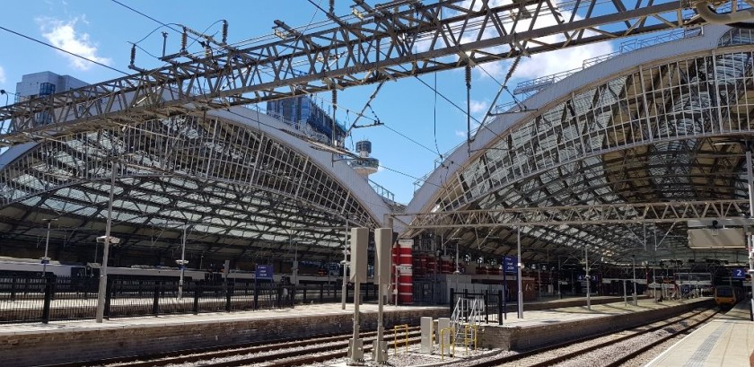
[[[99, 278], [0, 275], [0, 323], [94, 319]], [[373, 284], [362, 286], [362, 300], [377, 299]], [[342, 284], [274, 284], [253, 280], [185, 280], [108, 278], [106, 318], [268, 310], [295, 304], [338, 302]], [[353, 301], [346, 288], [346, 301]]]

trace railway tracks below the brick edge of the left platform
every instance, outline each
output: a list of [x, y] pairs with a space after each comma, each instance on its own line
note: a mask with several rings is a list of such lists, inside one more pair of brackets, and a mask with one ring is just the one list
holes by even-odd
[[[377, 332], [364, 332], [360, 336], [364, 340], [364, 355], [368, 355], [367, 353], [372, 350], [372, 341], [376, 339]], [[390, 333], [390, 330], [386, 330], [385, 340], [390, 342], [392, 336], [393, 334]], [[408, 328], [409, 344], [418, 342], [420, 340], [419, 336], [418, 327]], [[178, 351], [169, 354], [114, 358], [88, 363], [69, 363], [57, 365], [57, 367], [73, 365], [152, 367], [194, 363], [213, 366], [258, 365], [260, 363], [264, 363], [266, 366], [294, 366], [328, 361], [346, 356], [348, 340], [351, 337], [353, 335], [347, 334], [283, 340], [272, 343], [270, 341], [257, 342], [232, 347], [213, 347]]]

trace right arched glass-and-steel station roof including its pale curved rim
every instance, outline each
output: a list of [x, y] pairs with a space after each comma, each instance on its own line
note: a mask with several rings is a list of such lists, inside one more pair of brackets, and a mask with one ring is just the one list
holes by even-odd
[[[699, 37], [639, 49], [572, 74], [478, 129], [429, 176], [408, 213], [663, 203], [748, 197], [741, 144], [754, 108], [750, 31], [706, 27]], [[748, 205], [747, 205], [748, 206]], [[450, 216], [449, 216], [450, 218]], [[421, 223], [414, 223], [420, 228]], [[408, 236], [454, 238], [469, 254], [515, 255], [505, 226]], [[522, 257], [583, 253], [725, 258], [737, 250], [688, 249], [685, 223], [522, 227]]]

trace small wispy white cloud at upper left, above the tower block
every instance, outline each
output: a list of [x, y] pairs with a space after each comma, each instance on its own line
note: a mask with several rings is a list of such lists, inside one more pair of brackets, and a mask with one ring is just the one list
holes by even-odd
[[[107, 57], [97, 56], [97, 44], [92, 42], [89, 38], [89, 34], [76, 32], [75, 25], [80, 19], [75, 19], [71, 22], [62, 22], [51, 18], [39, 18], [39, 28], [42, 31], [42, 36], [49, 41], [53, 46], [61, 49], [65, 49], [68, 52], [86, 57], [92, 61], [96, 61], [105, 65], [110, 63], [110, 59]], [[83, 18], [81, 19], [83, 22]], [[58, 51], [59, 52], [59, 51]], [[60, 52], [71, 63], [71, 66], [79, 70], [88, 70], [92, 67], [92, 63], [84, 60], [80, 57], [75, 57], [65, 52]]]

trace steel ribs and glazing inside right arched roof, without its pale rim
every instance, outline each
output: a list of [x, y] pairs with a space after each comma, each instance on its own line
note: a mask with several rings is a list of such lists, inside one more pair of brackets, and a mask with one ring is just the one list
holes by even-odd
[[[536, 114], [511, 121], [488, 143], [478, 140], [466, 162], [449, 157], [458, 169], [435, 175], [442, 188], [427, 196], [422, 211], [430, 213], [413, 222], [410, 214], [397, 217], [408, 223], [402, 235], [434, 232], [461, 238], [464, 249], [502, 255], [519, 226], [525, 248], [537, 251], [528, 258], [546, 261], [583, 243], [619, 258], [644, 242], [640, 223], [653, 223], [663, 253], [696, 256], [683, 221], [750, 212], [738, 201], [747, 197], [742, 148], [716, 143], [754, 134], [752, 35], [709, 32], [720, 37], [719, 48], [647, 60], [628, 74], [552, 95]], [[685, 203], [696, 204], [683, 211]], [[725, 203], [736, 204], [719, 206]], [[626, 211], [631, 205], [647, 211]], [[659, 212], [664, 205], [668, 212]]]

